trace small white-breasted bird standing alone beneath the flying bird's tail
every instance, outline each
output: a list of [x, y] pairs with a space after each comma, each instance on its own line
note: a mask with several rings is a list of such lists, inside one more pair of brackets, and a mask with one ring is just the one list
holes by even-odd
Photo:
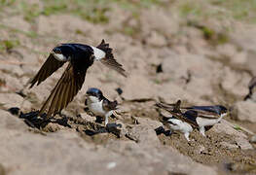
[[87, 90], [87, 106], [89, 110], [96, 116], [105, 118], [105, 126], [108, 123], [108, 117], [117, 109], [118, 102], [109, 101], [103, 96], [103, 93], [98, 88], [89, 88]]

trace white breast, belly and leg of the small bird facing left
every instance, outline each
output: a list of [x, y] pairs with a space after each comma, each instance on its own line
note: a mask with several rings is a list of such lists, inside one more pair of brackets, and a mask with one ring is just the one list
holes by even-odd
[[102, 108], [102, 103], [103, 100], [98, 101], [98, 99], [94, 96], [88, 97], [88, 108], [95, 116], [104, 117], [106, 125], [108, 123], [108, 117], [110, 117], [113, 114], [113, 110], [105, 111]]

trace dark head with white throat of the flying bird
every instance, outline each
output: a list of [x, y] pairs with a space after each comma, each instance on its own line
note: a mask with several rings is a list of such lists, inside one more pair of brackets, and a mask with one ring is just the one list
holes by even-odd
[[54, 54], [55, 58], [59, 61], [67, 61], [70, 59], [72, 52], [72, 47], [68, 45], [59, 45], [53, 49], [52, 54]]

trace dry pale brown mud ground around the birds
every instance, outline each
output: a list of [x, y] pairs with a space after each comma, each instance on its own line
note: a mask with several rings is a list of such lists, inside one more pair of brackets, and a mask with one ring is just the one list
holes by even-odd
[[[53, 2], [1, 1], [0, 175], [256, 174], [256, 146], [249, 142], [256, 103], [243, 101], [256, 75], [252, 1], [239, 4], [248, 8], [242, 18], [236, 18], [239, 9], [213, 1]], [[87, 14], [84, 7], [92, 10]], [[101, 39], [114, 49], [127, 79], [95, 63], [61, 116], [44, 127], [20, 116], [41, 107], [63, 71], [24, 88], [55, 45], [95, 46]], [[91, 87], [120, 103], [108, 129], [85, 111]], [[187, 142], [161, 129], [160, 117], [167, 114], [154, 106], [159, 97], [184, 105], [222, 104], [232, 114], [207, 137], [195, 130]], [[10, 113], [14, 107], [19, 110]]]

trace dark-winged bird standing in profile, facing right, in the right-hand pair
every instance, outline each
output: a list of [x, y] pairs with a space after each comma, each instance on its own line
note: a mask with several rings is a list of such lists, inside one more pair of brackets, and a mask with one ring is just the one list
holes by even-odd
[[175, 107], [175, 104], [159, 103], [158, 106], [182, 122], [199, 128], [203, 136], [205, 136], [205, 127], [208, 128], [219, 123], [223, 117], [228, 115], [227, 108], [221, 105], [179, 107], [179, 109]]

